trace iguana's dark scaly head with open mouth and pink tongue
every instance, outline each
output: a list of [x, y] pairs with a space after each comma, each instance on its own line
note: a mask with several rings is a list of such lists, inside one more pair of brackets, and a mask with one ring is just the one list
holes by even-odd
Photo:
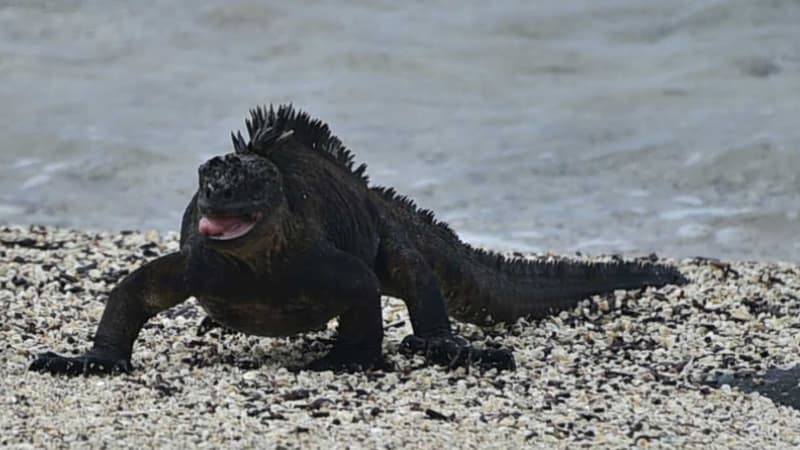
[[281, 174], [267, 158], [229, 153], [198, 170], [198, 232], [214, 241], [232, 241], [268, 222], [283, 204]]

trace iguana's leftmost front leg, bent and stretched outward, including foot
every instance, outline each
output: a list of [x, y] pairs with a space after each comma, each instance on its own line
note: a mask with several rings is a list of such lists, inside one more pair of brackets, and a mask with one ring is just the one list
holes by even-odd
[[188, 297], [184, 262], [184, 255], [172, 253], [134, 271], [109, 294], [91, 350], [77, 357], [47, 352], [30, 370], [65, 375], [129, 372], [133, 343], [144, 323]]

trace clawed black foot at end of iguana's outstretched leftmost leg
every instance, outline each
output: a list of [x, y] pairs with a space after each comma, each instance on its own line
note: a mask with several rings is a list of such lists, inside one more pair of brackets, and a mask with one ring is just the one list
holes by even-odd
[[34, 372], [69, 376], [129, 373], [132, 369], [127, 358], [115, 359], [91, 351], [77, 357], [61, 356], [53, 352], [43, 353], [28, 367], [28, 370]]

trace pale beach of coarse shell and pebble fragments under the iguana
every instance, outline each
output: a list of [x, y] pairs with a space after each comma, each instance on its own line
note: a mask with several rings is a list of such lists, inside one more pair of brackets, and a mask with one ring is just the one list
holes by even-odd
[[148, 323], [129, 375], [28, 372], [38, 353], [86, 350], [110, 288], [176, 249], [174, 234], [0, 227], [0, 446], [800, 445], [800, 411], [714, 382], [757, 386], [800, 364], [800, 267], [788, 263], [664, 260], [690, 283], [595, 296], [534, 323], [457, 324], [476, 345], [513, 348], [514, 372], [400, 355], [410, 325], [389, 298], [393, 372], [293, 371], [325, 352], [334, 323], [281, 339], [198, 336], [193, 300]]

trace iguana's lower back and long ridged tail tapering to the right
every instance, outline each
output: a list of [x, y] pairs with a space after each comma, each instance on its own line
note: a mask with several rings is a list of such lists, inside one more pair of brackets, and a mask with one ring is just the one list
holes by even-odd
[[391, 188], [373, 190], [408, 213], [403, 224], [413, 230], [415, 246], [436, 274], [448, 312], [462, 321], [485, 325], [541, 318], [593, 294], [685, 281], [677, 268], [663, 264], [525, 260], [476, 249], [407, 197]]

